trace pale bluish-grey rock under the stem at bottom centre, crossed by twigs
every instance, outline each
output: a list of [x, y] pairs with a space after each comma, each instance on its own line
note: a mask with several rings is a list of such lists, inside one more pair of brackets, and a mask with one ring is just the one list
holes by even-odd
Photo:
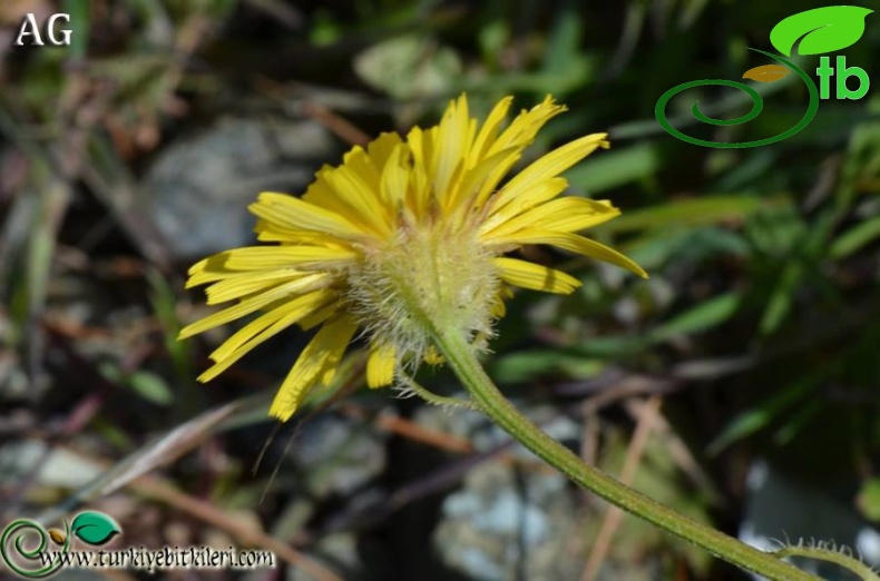
[[[555, 439], [570, 441], [578, 426], [550, 406], [524, 412]], [[420, 424], [470, 439], [480, 451], [510, 436], [482, 415], [426, 407]], [[578, 493], [531, 452], [508, 449], [517, 462], [491, 460], [470, 470], [462, 488], [447, 496], [433, 545], [443, 564], [467, 579], [578, 579], [583, 546], [573, 548], [583, 526]]]

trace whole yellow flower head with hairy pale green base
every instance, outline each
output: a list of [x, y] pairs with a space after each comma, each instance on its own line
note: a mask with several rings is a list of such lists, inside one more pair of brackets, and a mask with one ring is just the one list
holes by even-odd
[[550, 97], [506, 128], [511, 98], [480, 126], [462, 95], [430, 129], [383, 134], [325, 166], [301, 197], [263, 193], [251, 211], [258, 239], [189, 269], [187, 287], [211, 283], [207, 303], [234, 306], [193, 323], [180, 338], [257, 311], [211, 358], [206, 382], [293, 324], [321, 326], [284, 380], [270, 414], [289, 420], [326, 385], [359, 331], [369, 342], [366, 382], [387, 386], [407, 364], [441, 361], [430, 328], [457, 328], [476, 348], [503, 316], [510, 287], [568, 294], [580, 283], [559, 270], [502, 256], [547, 244], [646, 276], [629, 258], [575, 233], [619, 214], [607, 200], [559, 197], [559, 174], [606, 134], [566, 144], [503, 185], [538, 130], [565, 107]]

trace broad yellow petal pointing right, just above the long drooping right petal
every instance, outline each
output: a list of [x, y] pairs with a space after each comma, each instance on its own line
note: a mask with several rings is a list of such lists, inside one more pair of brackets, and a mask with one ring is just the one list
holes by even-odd
[[481, 235], [480, 239], [490, 242], [492, 237], [509, 236], [525, 228], [542, 232], [577, 232], [607, 221], [619, 214], [620, 210], [612, 206], [608, 200], [569, 196], [531, 208]]

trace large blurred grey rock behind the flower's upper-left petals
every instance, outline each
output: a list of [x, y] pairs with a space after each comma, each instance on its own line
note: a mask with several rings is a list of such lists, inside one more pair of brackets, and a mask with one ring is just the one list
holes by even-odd
[[223, 119], [172, 144], [144, 179], [149, 211], [174, 258], [255, 243], [247, 205], [264, 190], [302, 194], [339, 147], [316, 121]]

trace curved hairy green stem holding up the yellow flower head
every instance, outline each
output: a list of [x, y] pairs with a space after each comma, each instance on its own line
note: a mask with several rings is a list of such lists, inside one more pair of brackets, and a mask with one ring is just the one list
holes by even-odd
[[433, 328], [432, 335], [447, 363], [482, 412], [524, 446], [580, 486], [746, 571], [773, 580], [815, 581], [819, 579], [770, 553], [754, 549], [685, 516], [585, 463], [519, 413], [495, 386], [477, 361], [473, 349], [459, 332]]

